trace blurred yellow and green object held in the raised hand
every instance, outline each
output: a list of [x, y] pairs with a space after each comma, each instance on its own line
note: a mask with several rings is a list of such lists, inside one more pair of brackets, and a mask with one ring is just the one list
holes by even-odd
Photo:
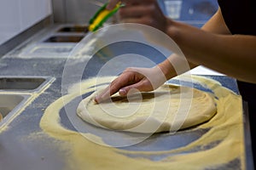
[[123, 7], [124, 5], [121, 3], [118, 3], [113, 10], [108, 10], [107, 7], [108, 3], [105, 3], [99, 10], [94, 14], [94, 16], [90, 19], [89, 24], [90, 26], [88, 27], [89, 31], [96, 31], [102, 25], [104, 22], [108, 20], [113, 14], [115, 14], [119, 8]]

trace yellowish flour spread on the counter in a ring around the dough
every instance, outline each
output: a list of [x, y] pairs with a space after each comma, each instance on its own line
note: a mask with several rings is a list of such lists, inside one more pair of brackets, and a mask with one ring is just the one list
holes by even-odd
[[[67, 163], [67, 169], [245, 169], [241, 96], [224, 88], [219, 82], [205, 77], [193, 77], [193, 80], [212, 91], [218, 113], [212, 116], [210, 121], [190, 130], [174, 134], [160, 133], [152, 139], [152, 143], [148, 143], [146, 139], [143, 146], [150, 146], [149, 150], [141, 149], [139, 144], [135, 144], [137, 150], [109, 147], [109, 144], [106, 144], [108, 140], [102, 139], [97, 133], [79, 132], [61, 123], [65, 106], [68, 107], [81, 94], [93, 92], [96, 82], [108, 83], [112, 80], [113, 77], [102, 77], [80, 82], [70, 89], [67, 95], [49, 105], [44, 112], [40, 127], [44, 133], [61, 141], [58, 146], [66, 150], [63, 156], [67, 157], [64, 161]], [[73, 110], [81, 100], [78, 99]], [[68, 114], [76, 116], [76, 111]], [[80, 120], [79, 116], [77, 118]], [[83, 121], [81, 123], [85, 124]], [[75, 126], [75, 122], [73, 125]], [[99, 127], [99, 130], [102, 129]], [[205, 133], [201, 134], [202, 130], [205, 130]], [[172, 137], [191, 132], [200, 135], [189, 144], [168, 147], [172, 144]], [[109, 138], [119, 139], [114, 135], [114, 132], [111, 133]], [[164, 150], [153, 150], [154, 143], [160, 139], [163, 141], [160, 146]]]

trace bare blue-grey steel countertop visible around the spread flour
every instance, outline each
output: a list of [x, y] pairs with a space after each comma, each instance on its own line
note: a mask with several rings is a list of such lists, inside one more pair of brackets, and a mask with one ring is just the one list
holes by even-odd
[[[39, 127], [39, 122], [44, 114], [44, 110], [48, 105], [61, 97], [62, 72], [69, 52], [76, 45], [74, 42], [55, 44], [44, 42], [47, 37], [53, 35], [66, 35], [65, 33], [56, 32], [62, 26], [63, 25], [50, 26], [44, 31], [38, 32], [37, 35], [0, 59], [1, 77], [49, 77], [47, 83], [50, 85], [47, 88], [41, 87], [38, 91], [25, 90], [15, 92], [17, 94], [26, 94], [28, 96], [38, 93], [39, 96], [32, 100], [32, 103], [27, 105], [26, 108], [23, 108], [12, 121], [1, 125], [6, 127], [3, 132], [0, 131], [0, 164], [3, 169], [64, 169], [66, 165], [65, 158], [67, 153], [60, 150], [59, 144], [61, 141], [50, 138], [43, 133], [42, 129]], [[84, 33], [73, 33], [73, 35], [84, 35]], [[125, 48], [127, 46], [129, 48]], [[113, 44], [113, 47], [110, 48], [118, 49], [115, 50], [116, 54], [123, 54], [128, 51], [131, 53], [132, 49], [133, 53], [148, 56], [149, 59], [155, 59], [155, 63], [159, 63], [162, 59], [165, 59], [165, 57], [160, 56], [157, 51], [152, 51], [150, 48], [148, 48], [148, 50], [142, 50], [137, 47], [137, 43], [121, 42]], [[44, 52], [46, 54], [44, 54]], [[155, 56], [159, 57], [154, 58]], [[86, 74], [83, 75], [83, 79], [96, 76], [96, 72], [99, 71], [107, 60], [101, 57], [90, 59], [90, 65], [86, 68]], [[75, 62], [76, 59], [73, 59], [73, 61], [74, 65], [77, 65], [78, 67], [83, 64], [83, 62]], [[141, 63], [141, 65], [143, 65], [143, 63]], [[108, 74], [111, 75], [111, 71]], [[236, 87], [236, 80], [224, 76], [210, 77], [218, 80], [225, 87], [230, 88], [234, 92], [239, 93]], [[71, 85], [73, 84], [72, 80], [70, 80], [70, 83]], [[44, 91], [44, 93], [40, 94], [41, 91]], [[6, 91], [4, 90], [0, 92], [0, 94], [5, 93]], [[245, 127], [247, 127], [247, 116], [245, 116], [245, 119]], [[68, 121], [65, 114], [61, 117], [61, 123], [63, 123], [65, 127], [73, 129], [72, 124]], [[172, 150], [173, 148], [189, 144], [191, 141], [205, 133], [205, 131], [207, 131], [207, 129], [202, 129], [200, 131], [192, 130], [187, 133], [178, 133], [174, 136], [157, 134], [145, 141], [149, 144], [150, 148], [141, 143], [125, 149]], [[35, 134], [37, 134], [37, 140], [32, 139], [32, 136]], [[179, 142], [177, 142], [176, 145], [174, 143], [165, 144], [167, 141], [169, 143], [172, 141]], [[247, 139], [246, 141], [248, 153], [251, 146]], [[152, 144], [150, 145], [150, 143]], [[160, 158], [153, 159], [157, 160]], [[251, 161], [251, 157], [247, 157], [248, 169], [252, 168]], [[234, 168], [240, 169], [240, 167], [236, 167], [237, 164], [239, 165], [239, 160], [229, 162], [226, 166], [233, 167], [233, 164], [235, 166]], [[220, 167], [219, 169], [222, 168], [223, 167]]]

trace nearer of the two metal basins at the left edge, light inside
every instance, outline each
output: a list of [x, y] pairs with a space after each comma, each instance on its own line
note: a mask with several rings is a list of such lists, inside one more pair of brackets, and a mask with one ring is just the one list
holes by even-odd
[[15, 116], [29, 96], [28, 94], [0, 94], [0, 113], [3, 116], [0, 126]]

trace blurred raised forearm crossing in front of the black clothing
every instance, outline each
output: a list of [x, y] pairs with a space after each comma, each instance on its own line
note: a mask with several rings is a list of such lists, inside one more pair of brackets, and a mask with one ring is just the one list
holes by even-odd
[[256, 37], [219, 35], [172, 21], [166, 32], [190, 62], [242, 81], [256, 82]]

